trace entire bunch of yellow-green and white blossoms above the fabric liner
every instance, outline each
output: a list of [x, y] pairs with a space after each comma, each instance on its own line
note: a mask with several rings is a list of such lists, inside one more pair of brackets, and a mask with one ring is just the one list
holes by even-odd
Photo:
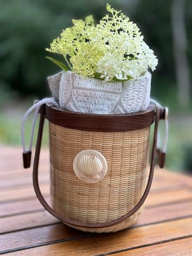
[[[143, 41], [139, 28], [129, 17], [106, 5], [110, 13], [95, 27], [92, 16], [73, 20], [51, 44], [53, 53], [62, 54], [72, 71], [105, 81], [123, 81], [155, 70], [158, 60]], [[69, 59], [69, 61], [68, 61]]]

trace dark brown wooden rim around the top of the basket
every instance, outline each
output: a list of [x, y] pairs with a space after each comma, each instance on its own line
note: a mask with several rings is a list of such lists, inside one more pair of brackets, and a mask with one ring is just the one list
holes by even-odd
[[154, 122], [155, 105], [147, 110], [118, 115], [86, 114], [45, 105], [46, 118], [56, 125], [90, 132], [125, 132], [143, 129]]

